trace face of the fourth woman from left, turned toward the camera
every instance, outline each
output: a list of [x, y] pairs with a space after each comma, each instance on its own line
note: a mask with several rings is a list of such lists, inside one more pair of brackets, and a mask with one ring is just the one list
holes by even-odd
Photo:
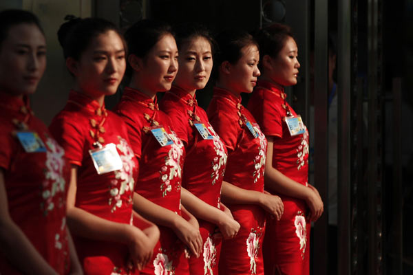
[[174, 84], [185, 91], [203, 89], [211, 76], [211, 44], [202, 36], [186, 41], [179, 51], [179, 71]]

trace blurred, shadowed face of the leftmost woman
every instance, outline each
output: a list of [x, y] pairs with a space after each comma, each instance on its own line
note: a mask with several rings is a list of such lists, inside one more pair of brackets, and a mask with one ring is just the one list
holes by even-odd
[[34, 24], [13, 25], [0, 45], [0, 89], [15, 96], [33, 94], [45, 68], [43, 33]]

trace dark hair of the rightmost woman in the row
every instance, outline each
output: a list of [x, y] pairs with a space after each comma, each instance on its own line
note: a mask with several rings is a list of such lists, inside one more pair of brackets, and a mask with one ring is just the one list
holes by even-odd
[[276, 57], [281, 52], [288, 37], [294, 39], [291, 28], [280, 23], [268, 25], [255, 34], [255, 39], [257, 39], [260, 45], [261, 56]]

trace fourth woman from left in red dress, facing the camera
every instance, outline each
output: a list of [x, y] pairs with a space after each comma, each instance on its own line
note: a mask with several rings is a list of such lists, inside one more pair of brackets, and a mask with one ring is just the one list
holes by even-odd
[[[199, 258], [189, 258], [191, 274], [218, 274], [221, 237], [231, 239], [240, 229], [228, 208], [220, 203], [226, 166], [226, 147], [215, 133], [207, 113], [198, 106], [195, 91], [207, 85], [213, 65], [213, 40], [200, 25], [176, 29], [179, 71], [173, 86], [160, 102], [171, 118], [176, 135], [187, 154], [184, 159], [182, 204], [199, 219], [203, 250]], [[225, 211], [225, 212], [224, 212]]]

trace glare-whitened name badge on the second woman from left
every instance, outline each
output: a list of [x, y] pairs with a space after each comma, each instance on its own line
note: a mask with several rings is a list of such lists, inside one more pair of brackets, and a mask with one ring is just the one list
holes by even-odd
[[89, 154], [99, 175], [119, 170], [123, 167], [122, 159], [120, 159], [116, 145], [113, 143], [89, 150]]

